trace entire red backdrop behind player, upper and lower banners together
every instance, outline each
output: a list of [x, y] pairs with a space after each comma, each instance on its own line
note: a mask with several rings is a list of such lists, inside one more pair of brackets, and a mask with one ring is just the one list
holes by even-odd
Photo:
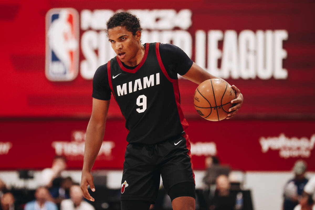
[[[55, 155], [82, 168], [92, 78], [115, 56], [104, 29], [120, 9], [140, 18], [143, 43], [179, 46], [244, 95], [234, 119], [208, 122], [192, 103], [197, 84], [179, 79], [196, 169], [217, 155], [235, 169], [288, 171], [304, 159], [315, 171], [315, 4], [306, 0], [2, 1], [0, 169], [50, 167]], [[127, 133], [113, 99], [108, 116], [95, 169], [123, 166]]]

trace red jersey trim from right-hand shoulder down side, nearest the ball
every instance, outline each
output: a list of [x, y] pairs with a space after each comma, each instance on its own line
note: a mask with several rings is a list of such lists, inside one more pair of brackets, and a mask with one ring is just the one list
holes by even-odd
[[178, 79], [172, 79], [171, 77], [169, 77], [169, 74], [167, 73], [167, 71], [166, 71], [166, 69], [165, 69], [165, 67], [163, 65], [161, 56], [160, 56], [159, 45], [160, 45], [159, 42], [157, 42], [156, 45], [155, 45], [155, 52], [157, 54], [157, 60], [158, 60], [160, 68], [163, 71], [163, 74], [165, 75], [165, 77], [170, 82], [173, 83], [174, 95], [175, 95], [178, 115], [180, 117], [180, 123], [181, 123], [181, 126], [183, 127], [183, 130], [185, 130], [186, 128], [188, 128], [188, 122], [186, 121], [186, 119], [184, 117], [184, 114], [183, 114], [183, 111], [180, 108], [180, 95], [179, 95]]

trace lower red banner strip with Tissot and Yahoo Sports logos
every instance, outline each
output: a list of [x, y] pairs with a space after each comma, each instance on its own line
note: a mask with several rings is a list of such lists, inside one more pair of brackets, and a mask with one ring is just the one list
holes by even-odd
[[[251, 171], [289, 171], [303, 159], [315, 171], [315, 122], [188, 120], [195, 169], [217, 155], [223, 164]], [[0, 121], [0, 169], [50, 167], [64, 155], [69, 169], [82, 169], [88, 120]], [[127, 142], [123, 120], [108, 120], [94, 169], [122, 169]]]

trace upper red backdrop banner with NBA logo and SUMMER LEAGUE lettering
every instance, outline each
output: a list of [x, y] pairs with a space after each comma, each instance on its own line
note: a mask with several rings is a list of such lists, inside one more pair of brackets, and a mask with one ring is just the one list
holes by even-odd
[[[309, 1], [122, 5], [6, 0], [0, 8], [5, 29], [0, 35], [0, 116], [89, 116], [94, 72], [113, 57], [103, 29], [118, 9], [140, 17], [143, 42], [174, 43], [198, 65], [235, 84], [245, 98], [239, 116], [314, 116], [315, 8]], [[57, 23], [70, 28], [60, 31]], [[62, 33], [70, 38], [62, 38]], [[192, 105], [196, 87], [180, 79], [186, 115], [197, 115]], [[115, 102], [109, 116], [121, 116]]]

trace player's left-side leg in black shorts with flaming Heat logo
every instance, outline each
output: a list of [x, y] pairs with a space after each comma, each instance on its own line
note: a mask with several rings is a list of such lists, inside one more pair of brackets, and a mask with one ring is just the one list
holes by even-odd
[[155, 157], [149, 155], [144, 145], [127, 145], [120, 196], [122, 210], [148, 210], [155, 201], [160, 171], [154, 163]]

